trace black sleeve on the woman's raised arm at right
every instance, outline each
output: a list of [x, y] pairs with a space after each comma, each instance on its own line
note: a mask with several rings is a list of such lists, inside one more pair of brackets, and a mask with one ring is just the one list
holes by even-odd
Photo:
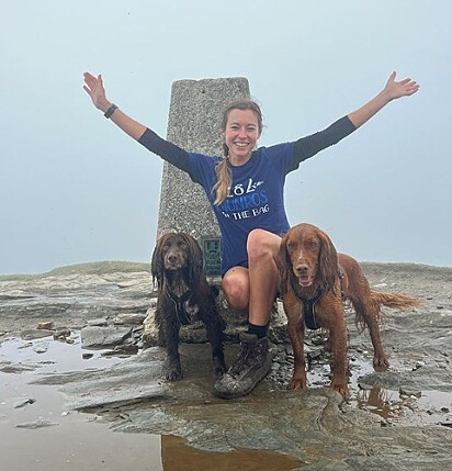
[[329, 127], [310, 136], [302, 137], [294, 143], [294, 160], [300, 164], [320, 150], [337, 144], [355, 131], [354, 124], [348, 116], [332, 123]]

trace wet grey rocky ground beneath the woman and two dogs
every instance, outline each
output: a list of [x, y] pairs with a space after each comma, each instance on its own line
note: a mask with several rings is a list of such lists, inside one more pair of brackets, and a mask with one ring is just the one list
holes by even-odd
[[[285, 389], [292, 355], [282, 313], [272, 321], [272, 372], [250, 396], [213, 396], [208, 346], [199, 344], [204, 334], [197, 325], [183, 332], [184, 380], [162, 381], [163, 352], [143, 349], [143, 322], [155, 306], [146, 265], [91, 263], [41, 276], [0, 277], [0, 341], [15, 338], [42, 351], [53, 343], [74, 344], [87, 360], [99, 349], [121, 359], [34, 380], [60, 389], [68, 410], [95, 413], [116, 430], [160, 435], [167, 462], [174, 456], [171, 437], [182, 437], [192, 449], [208, 451], [211, 459], [225, 461], [228, 453], [245, 449], [293, 460], [265, 469], [450, 469], [452, 269], [397, 263], [363, 268], [373, 289], [415, 295], [421, 305], [407, 313], [386, 311], [382, 330], [391, 368], [384, 372], [372, 369], [370, 338], [357, 332], [347, 310], [352, 392], [347, 403], [326, 388], [329, 359], [318, 333], [309, 333], [306, 343], [309, 388]], [[218, 303], [224, 307], [222, 299]], [[223, 312], [230, 361], [240, 323], [233, 322], [234, 313]], [[146, 328], [149, 340], [151, 326]], [[13, 356], [0, 357], [0, 372], [19, 374], [27, 367], [33, 368]]]

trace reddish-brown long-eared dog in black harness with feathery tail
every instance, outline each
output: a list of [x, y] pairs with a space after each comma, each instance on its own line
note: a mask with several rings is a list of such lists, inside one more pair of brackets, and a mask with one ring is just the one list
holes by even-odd
[[294, 351], [294, 373], [289, 388], [306, 386], [305, 326], [312, 329], [323, 327], [329, 332], [334, 355], [331, 386], [348, 396], [346, 300], [355, 312], [357, 326], [369, 328], [374, 367], [388, 367], [380, 336], [381, 309], [406, 310], [417, 306], [418, 300], [371, 290], [358, 261], [338, 254], [328, 235], [312, 224], [298, 224], [285, 234], [279, 267], [287, 332]]

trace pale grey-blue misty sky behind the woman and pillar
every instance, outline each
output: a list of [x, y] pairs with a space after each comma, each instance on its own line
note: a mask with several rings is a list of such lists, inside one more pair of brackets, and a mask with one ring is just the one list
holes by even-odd
[[150, 258], [162, 164], [92, 106], [84, 70], [163, 136], [174, 80], [247, 77], [261, 145], [411, 77], [417, 94], [289, 177], [286, 210], [359, 260], [452, 266], [451, 18], [447, 0], [5, 2], [0, 273]]

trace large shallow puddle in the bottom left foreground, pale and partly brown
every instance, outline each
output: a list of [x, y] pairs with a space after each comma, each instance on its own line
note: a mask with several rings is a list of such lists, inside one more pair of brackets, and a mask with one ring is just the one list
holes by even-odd
[[[112, 431], [95, 414], [68, 411], [65, 395], [56, 388], [32, 382], [43, 374], [89, 370], [122, 361], [102, 357], [102, 351], [95, 350], [83, 350], [93, 354], [83, 359], [79, 336], [74, 340], [75, 344], [66, 344], [52, 337], [12, 338], [0, 344], [2, 468], [14, 471], [124, 471], [134, 468], [289, 471], [302, 466], [291, 457], [264, 450], [213, 453], [193, 449], [179, 437]], [[37, 422], [50, 425], [35, 429], [18, 427]]]

